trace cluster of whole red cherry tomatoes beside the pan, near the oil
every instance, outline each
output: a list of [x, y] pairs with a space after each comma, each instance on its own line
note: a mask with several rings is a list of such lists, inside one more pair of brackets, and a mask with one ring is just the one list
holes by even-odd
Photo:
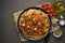
[[50, 5], [49, 2], [41, 4], [41, 6], [47, 11], [47, 13], [50, 14], [50, 17], [55, 16], [56, 13], [55, 13], [55, 11], [52, 9], [52, 6]]

